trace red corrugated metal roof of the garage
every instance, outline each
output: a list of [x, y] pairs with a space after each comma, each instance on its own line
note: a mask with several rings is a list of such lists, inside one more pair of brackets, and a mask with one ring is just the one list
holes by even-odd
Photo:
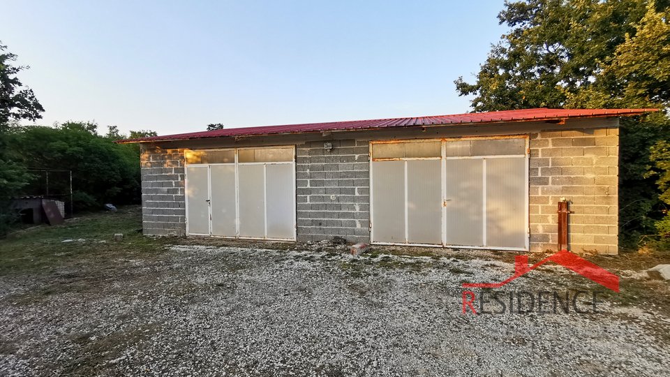
[[468, 112], [466, 114], [436, 115], [433, 117], [371, 119], [361, 121], [332, 121], [327, 123], [285, 124], [283, 126], [259, 126], [223, 128], [214, 131], [178, 133], [175, 135], [151, 136], [119, 140], [118, 142], [153, 142], [233, 136], [279, 135], [326, 131], [355, 131], [391, 127], [439, 126], [449, 124], [487, 124], [512, 121], [546, 121], [552, 119], [587, 117], [625, 117], [653, 112], [658, 109], [547, 109], [506, 110], [492, 112]]

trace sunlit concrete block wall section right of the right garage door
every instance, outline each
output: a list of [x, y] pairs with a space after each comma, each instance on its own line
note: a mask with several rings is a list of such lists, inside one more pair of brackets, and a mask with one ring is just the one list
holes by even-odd
[[618, 253], [618, 128], [530, 134], [530, 250], [556, 250], [569, 200], [571, 251]]

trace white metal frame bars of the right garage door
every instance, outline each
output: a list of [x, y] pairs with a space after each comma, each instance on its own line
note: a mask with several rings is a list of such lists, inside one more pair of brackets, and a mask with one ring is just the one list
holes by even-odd
[[[521, 154], [511, 154], [511, 155], [487, 155], [487, 156], [446, 156], [446, 148], [447, 148], [447, 142], [449, 141], [459, 141], [459, 140], [496, 140], [496, 139], [504, 139], [504, 138], [516, 138], [516, 139], [524, 139], [526, 141], [526, 147], [525, 147], [525, 153], [523, 155]], [[440, 168], [441, 168], [441, 185], [442, 185], [442, 244], [414, 244], [414, 243], [408, 243], [408, 211], [407, 211], [407, 192], [408, 192], [408, 182], [407, 182], [407, 161], [409, 160], [427, 160], [427, 159], [437, 159], [434, 157], [431, 158], [373, 158], [373, 145], [374, 144], [387, 144], [387, 143], [394, 143], [394, 142], [430, 142], [430, 141], [441, 141], [441, 156], [440, 156]], [[501, 135], [501, 136], [496, 136], [496, 137], [491, 137], [491, 136], [468, 136], [468, 137], [463, 137], [463, 138], [428, 138], [428, 139], [412, 139], [412, 140], [375, 140], [369, 142], [369, 162], [368, 162], [368, 168], [370, 170], [370, 224], [369, 224], [369, 229], [370, 229], [370, 241], [371, 244], [378, 244], [378, 245], [404, 245], [404, 246], [432, 246], [432, 247], [450, 247], [450, 248], [459, 248], [459, 249], [494, 249], [494, 250], [509, 250], [509, 251], [528, 251], [530, 248], [530, 208], [529, 208], [529, 168], [530, 168], [530, 150], [529, 150], [529, 135]], [[523, 248], [518, 248], [518, 247], [500, 247], [500, 246], [468, 246], [468, 245], [453, 245], [453, 244], [447, 244], [447, 224], [446, 224], [446, 219], [447, 219], [447, 207], [445, 206], [445, 203], [449, 198], [446, 198], [447, 196], [447, 182], [445, 180], [446, 177], [446, 170], [447, 170], [447, 159], [463, 159], [463, 158], [480, 158], [482, 159], [482, 164], [483, 169], [482, 169], [482, 182], [484, 184], [483, 190], [482, 190], [482, 195], [484, 196], [484, 205], [482, 206], [483, 212], [484, 212], [484, 217], [483, 217], [483, 225], [482, 225], [482, 235], [484, 242], [486, 242], [486, 158], [519, 158], [519, 157], [524, 157], [525, 158], [525, 179], [526, 182], [523, 185], [525, 188], [525, 203], [524, 203], [524, 208], [526, 210], [526, 214], [524, 216], [524, 219], [526, 221], [525, 224], [525, 229], [526, 229], [526, 237], [524, 237], [524, 243], [525, 247]], [[373, 162], [375, 161], [405, 161], [405, 243], [397, 243], [397, 242], [377, 242], [375, 241], [374, 238], [374, 231], [375, 227], [372, 221], [372, 214], [373, 214], [373, 185], [374, 185], [374, 180], [373, 180]]]

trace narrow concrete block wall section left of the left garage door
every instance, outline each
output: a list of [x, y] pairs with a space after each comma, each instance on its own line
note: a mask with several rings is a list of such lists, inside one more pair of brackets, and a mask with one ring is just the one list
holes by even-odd
[[142, 231], [144, 235], [186, 234], [184, 149], [142, 147]]

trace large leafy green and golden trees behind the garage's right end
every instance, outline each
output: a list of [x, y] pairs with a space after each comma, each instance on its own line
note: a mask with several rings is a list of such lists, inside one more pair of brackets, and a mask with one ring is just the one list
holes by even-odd
[[455, 82], [460, 95], [474, 96], [475, 111], [661, 109], [621, 123], [625, 242], [654, 232], [664, 213], [649, 168], [653, 147], [670, 136], [669, 5], [669, 0], [507, 1], [498, 19], [509, 31], [493, 45], [475, 82], [463, 77]]

